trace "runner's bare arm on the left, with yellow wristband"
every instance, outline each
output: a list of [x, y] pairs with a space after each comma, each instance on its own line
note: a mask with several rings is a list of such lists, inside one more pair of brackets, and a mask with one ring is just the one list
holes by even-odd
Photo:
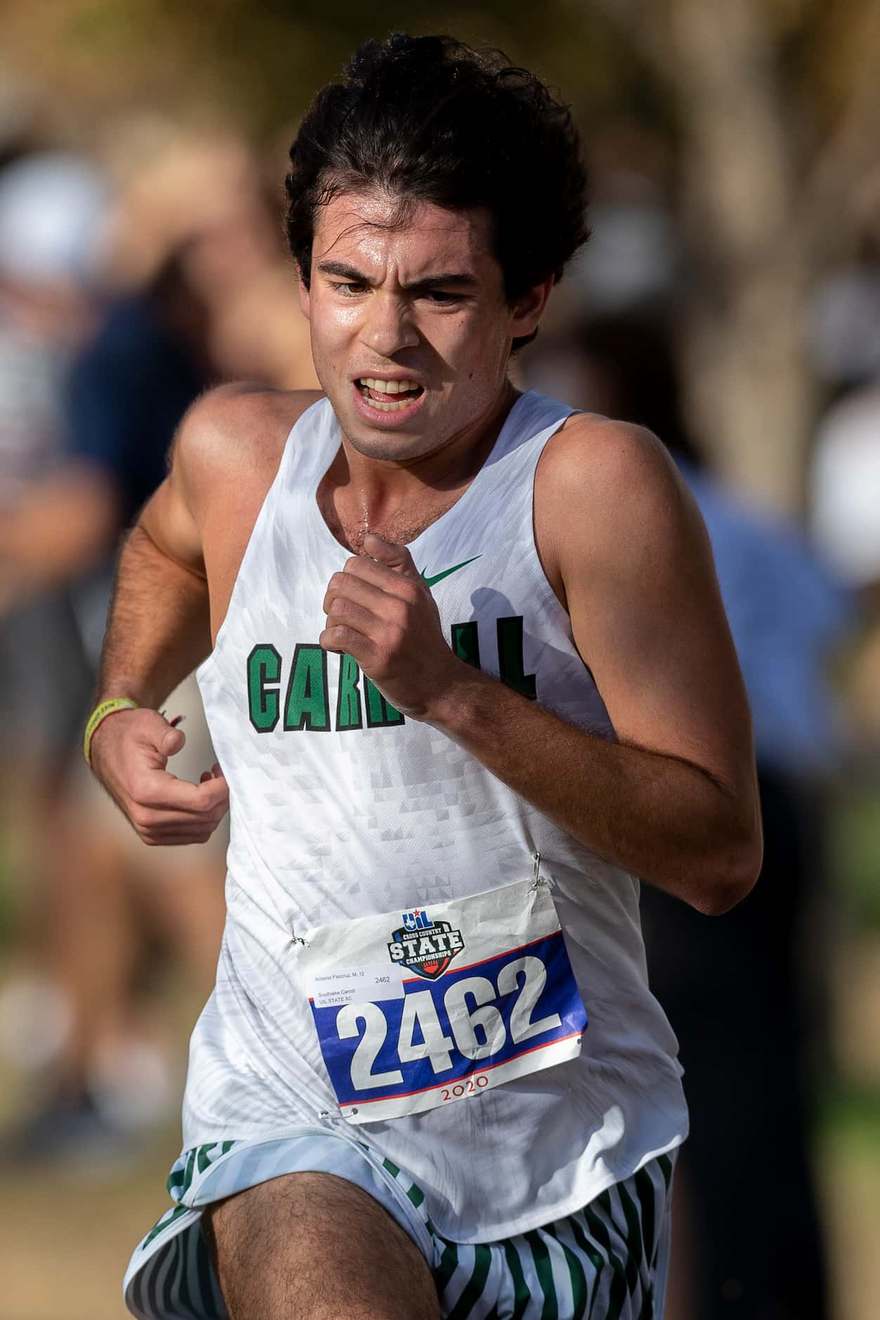
[[156, 706], [211, 649], [284, 440], [314, 399], [249, 385], [201, 399], [181, 425], [169, 477], [123, 550], [99, 700], [131, 697], [142, 709], [99, 725], [91, 764], [146, 843], [203, 842], [226, 812], [219, 766], [199, 784], [168, 772], [185, 734]]

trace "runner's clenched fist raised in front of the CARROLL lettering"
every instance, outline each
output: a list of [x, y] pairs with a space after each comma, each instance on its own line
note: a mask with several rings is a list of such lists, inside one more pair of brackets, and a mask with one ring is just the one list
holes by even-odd
[[364, 552], [330, 578], [327, 627], [318, 640], [356, 660], [401, 714], [430, 719], [467, 667], [446, 644], [430, 587], [406, 546], [368, 533]]

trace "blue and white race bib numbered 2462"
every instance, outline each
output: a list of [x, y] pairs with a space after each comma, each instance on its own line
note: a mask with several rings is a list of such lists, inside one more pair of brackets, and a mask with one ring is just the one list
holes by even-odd
[[317, 927], [298, 968], [351, 1123], [418, 1114], [563, 1063], [587, 1026], [542, 879]]

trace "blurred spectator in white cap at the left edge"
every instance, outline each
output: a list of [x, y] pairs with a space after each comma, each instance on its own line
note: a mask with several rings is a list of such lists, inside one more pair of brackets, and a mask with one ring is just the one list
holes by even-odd
[[[77, 477], [59, 486], [58, 473], [65, 383], [95, 315], [107, 206], [103, 181], [77, 156], [26, 154], [0, 172], [0, 780], [30, 965], [0, 1019], [7, 1049], [33, 1064], [65, 1030], [63, 1002], [32, 969], [50, 962], [49, 894], [59, 866], [50, 825], [90, 673], [53, 536], [58, 495], [65, 507], [73, 496], [75, 521], [94, 513]], [[37, 491], [46, 516], [33, 523]], [[41, 1030], [29, 1008], [40, 1010]]]

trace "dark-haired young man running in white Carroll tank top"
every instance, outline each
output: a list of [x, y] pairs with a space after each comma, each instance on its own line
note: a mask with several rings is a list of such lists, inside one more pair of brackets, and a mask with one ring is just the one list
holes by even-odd
[[[509, 383], [584, 239], [533, 75], [368, 42], [290, 154], [326, 397], [191, 411], [107, 636], [100, 696], [140, 709], [90, 748], [149, 842], [231, 807], [177, 1205], [127, 1303], [658, 1315], [686, 1113], [633, 876], [722, 912], [760, 858], [706, 535], [652, 436]], [[211, 639], [193, 785], [157, 708]]]

